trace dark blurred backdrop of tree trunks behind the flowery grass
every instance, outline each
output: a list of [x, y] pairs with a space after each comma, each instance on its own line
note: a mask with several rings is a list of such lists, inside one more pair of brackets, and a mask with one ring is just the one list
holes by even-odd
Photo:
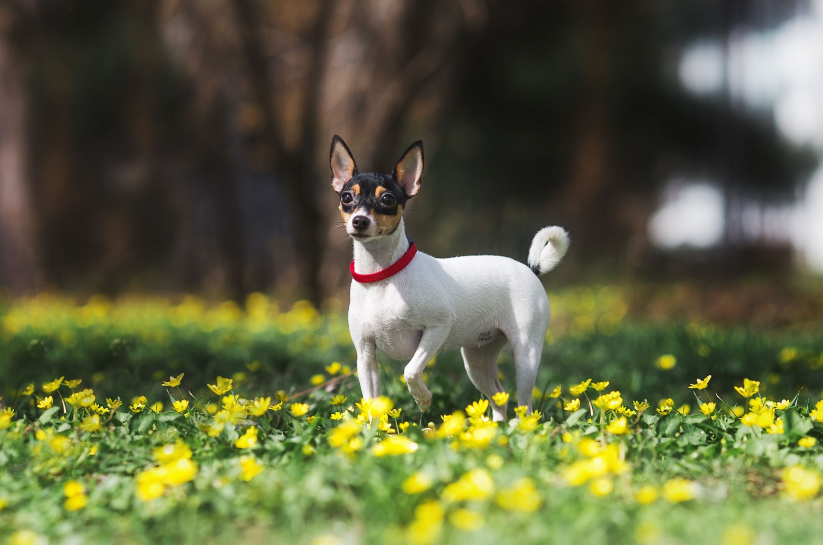
[[424, 140], [429, 254], [523, 260], [561, 225], [550, 288], [823, 316], [803, 0], [2, 0], [3, 293], [345, 300], [335, 133], [384, 172]]

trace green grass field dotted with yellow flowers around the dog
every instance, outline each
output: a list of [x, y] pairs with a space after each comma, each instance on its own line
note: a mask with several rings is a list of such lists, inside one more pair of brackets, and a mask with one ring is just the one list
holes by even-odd
[[360, 399], [333, 301], [2, 302], [0, 543], [819, 541], [819, 327], [550, 300], [535, 410], [504, 353], [499, 423], [457, 353], [424, 414], [388, 358]]

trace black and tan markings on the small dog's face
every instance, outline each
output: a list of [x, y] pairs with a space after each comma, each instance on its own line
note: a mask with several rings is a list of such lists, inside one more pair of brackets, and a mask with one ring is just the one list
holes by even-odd
[[374, 235], [390, 235], [398, 228], [406, 194], [391, 176], [367, 172], [356, 175], [340, 192], [340, 215], [346, 223], [362, 210], [374, 220]]

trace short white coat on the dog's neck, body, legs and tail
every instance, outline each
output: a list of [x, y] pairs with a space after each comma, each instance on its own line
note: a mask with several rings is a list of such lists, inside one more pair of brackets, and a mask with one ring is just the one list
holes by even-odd
[[[356, 232], [347, 226], [351, 234]], [[391, 235], [354, 241], [355, 270], [378, 272], [408, 249], [401, 219]], [[540, 274], [554, 268], [569, 236], [556, 226], [535, 235], [528, 263]], [[514, 355], [518, 403], [532, 410], [532, 389], [550, 319], [549, 301], [534, 272], [514, 259], [474, 255], [436, 259], [418, 251], [412, 262], [386, 280], [351, 282], [349, 328], [357, 350], [357, 372], [364, 398], [380, 394], [375, 351], [409, 359], [404, 377], [421, 410], [431, 392], [423, 369], [441, 350], [460, 347], [469, 378], [490, 399], [495, 421], [506, 404], [492, 396], [503, 391], [497, 358], [508, 342]]]

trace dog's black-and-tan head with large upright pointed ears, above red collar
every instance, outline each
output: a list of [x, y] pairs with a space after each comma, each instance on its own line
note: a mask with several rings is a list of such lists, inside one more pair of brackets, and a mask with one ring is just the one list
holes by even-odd
[[406, 201], [420, 191], [423, 142], [418, 140], [403, 153], [391, 175], [357, 172], [355, 158], [337, 135], [332, 138], [329, 161], [346, 233], [360, 241], [391, 235], [398, 228]]

